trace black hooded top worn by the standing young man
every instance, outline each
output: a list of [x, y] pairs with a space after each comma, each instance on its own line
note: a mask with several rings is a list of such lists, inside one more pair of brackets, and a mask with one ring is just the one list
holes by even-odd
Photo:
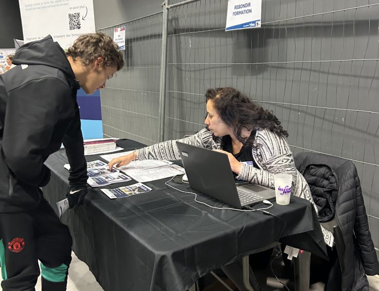
[[17, 49], [12, 70], [0, 75], [0, 212], [34, 209], [43, 164], [62, 142], [70, 189], [86, 187], [87, 171], [76, 92], [79, 83], [63, 49], [49, 35]]

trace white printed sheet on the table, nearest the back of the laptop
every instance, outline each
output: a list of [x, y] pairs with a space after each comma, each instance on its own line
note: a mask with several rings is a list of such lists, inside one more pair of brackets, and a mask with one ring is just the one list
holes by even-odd
[[153, 169], [146, 169], [142, 171], [128, 171], [128, 176], [135, 179], [138, 182], [149, 182], [159, 180], [163, 178], [169, 178], [176, 175], [185, 174], [184, 168], [181, 166], [172, 164], [163, 167], [157, 167]]

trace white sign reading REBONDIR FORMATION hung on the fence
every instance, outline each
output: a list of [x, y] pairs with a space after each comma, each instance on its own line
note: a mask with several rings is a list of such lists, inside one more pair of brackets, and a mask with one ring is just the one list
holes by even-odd
[[229, 0], [225, 31], [260, 27], [262, 0]]

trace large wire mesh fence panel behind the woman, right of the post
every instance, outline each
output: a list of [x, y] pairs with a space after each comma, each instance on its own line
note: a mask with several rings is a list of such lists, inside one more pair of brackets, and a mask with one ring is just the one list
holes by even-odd
[[294, 154], [356, 164], [378, 248], [378, 1], [263, 0], [262, 27], [233, 32], [226, 12], [227, 0], [170, 9], [165, 139], [204, 127], [207, 88], [238, 88], [276, 114]]

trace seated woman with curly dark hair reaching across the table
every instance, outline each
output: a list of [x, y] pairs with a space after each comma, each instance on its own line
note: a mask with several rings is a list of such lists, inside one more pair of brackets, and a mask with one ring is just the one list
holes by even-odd
[[[296, 170], [292, 152], [285, 139], [288, 133], [277, 117], [234, 88], [209, 89], [205, 96], [207, 128], [179, 141], [224, 152], [228, 155], [236, 178], [251, 183], [274, 189], [274, 174], [291, 174], [292, 194], [309, 200], [317, 212], [310, 188]], [[180, 154], [175, 140], [165, 141], [115, 158], [109, 162], [109, 168], [127, 165], [135, 159], [180, 160]], [[242, 163], [247, 161], [252, 164]], [[332, 234], [324, 228], [322, 231], [325, 242], [332, 246]], [[228, 275], [229, 272], [225, 273]], [[233, 276], [229, 277], [240, 290], [245, 290]]]

